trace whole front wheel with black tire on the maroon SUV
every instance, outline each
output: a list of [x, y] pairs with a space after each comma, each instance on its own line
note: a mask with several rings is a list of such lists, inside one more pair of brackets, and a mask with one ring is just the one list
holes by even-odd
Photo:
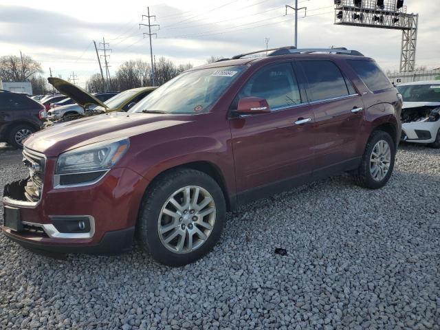
[[138, 219], [142, 248], [159, 263], [182, 266], [208, 253], [221, 236], [225, 198], [206, 173], [173, 170], [148, 188]]

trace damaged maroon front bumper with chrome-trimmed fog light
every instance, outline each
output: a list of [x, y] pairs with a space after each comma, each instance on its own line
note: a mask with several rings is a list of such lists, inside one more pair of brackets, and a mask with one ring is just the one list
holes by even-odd
[[[18, 210], [20, 226], [13, 230], [3, 225], [3, 234], [25, 248], [52, 252], [113, 254], [129, 249], [147, 186], [144, 177], [129, 168], [113, 168], [95, 184], [53, 188], [55, 163], [46, 159], [39, 200], [25, 198], [29, 179], [5, 186], [3, 206]], [[60, 219], [78, 217], [93, 220], [87, 232], [72, 233], [63, 223], [60, 227]]]

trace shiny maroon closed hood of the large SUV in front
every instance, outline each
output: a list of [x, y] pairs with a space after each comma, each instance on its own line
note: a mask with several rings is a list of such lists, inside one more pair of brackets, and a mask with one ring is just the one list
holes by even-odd
[[161, 115], [153, 113], [121, 112], [92, 115], [90, 117], [54, 124], [36, 132], [25, 141], [25, 147], [56, 157], [64, 151], [142, 133], [166, 129], [188, 122], [187, 116]]

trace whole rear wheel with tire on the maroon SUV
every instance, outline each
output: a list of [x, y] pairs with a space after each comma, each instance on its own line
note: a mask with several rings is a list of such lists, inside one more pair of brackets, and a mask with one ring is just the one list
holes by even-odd
[[384, 131], [373, 131], [365, 146], [362, 162], [353, 175], [363, 188], [378, 189], [385, 186], [393, 173], [395, 143]]

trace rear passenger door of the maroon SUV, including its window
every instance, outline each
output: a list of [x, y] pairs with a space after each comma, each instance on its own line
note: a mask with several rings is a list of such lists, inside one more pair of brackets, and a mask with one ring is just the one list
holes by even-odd
[[298, 61], [298, 67], [315, 116], [316, 170], [348, 162], [357, 153], [364, 120], [362, 97], [333, 61]]

